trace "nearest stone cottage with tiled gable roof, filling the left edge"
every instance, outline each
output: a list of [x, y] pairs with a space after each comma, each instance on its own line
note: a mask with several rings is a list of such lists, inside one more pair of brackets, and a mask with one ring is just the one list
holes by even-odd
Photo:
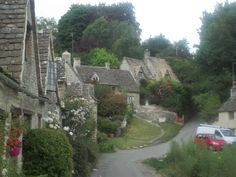
[[[46, 54], [40, 54], [43, 53]], [[50, 55], [52, 56], [52, 53], [48, 53], [48, 58], [51, 58]], [[13, 122], [24, 125], [25, 129], [41, 128], [49, 105], [57, 107], [57, 101], [51, 100], [46, 92], [46, 84], [42, 85], [42, 63], [34, 0], [0, 1], [0, 117], [2, 119], [3, 115], [7, 115], [3, 125], [7, 132], [4, 134], [5, 138], [1, 139], [3, 145], [9, 138]], [[46, 72], [44, 81], [50, 76], [48, 71]], [[22, 136], [19, 136], [20, 140]], [[10, 158], [6, 149], [0, 154], [3, 159]], [[21, 152], [14, 158], [19, 167], [21, 158]]]

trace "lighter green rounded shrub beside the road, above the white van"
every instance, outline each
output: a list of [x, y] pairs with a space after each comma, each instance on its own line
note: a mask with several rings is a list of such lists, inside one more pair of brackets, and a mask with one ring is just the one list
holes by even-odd
[[217, 109], [220, 107], [220, 98], [217, 94], [208, 92], [194, 96], [194, 101], [200, 110], [199, 116], [207, 121], [217, 116]]

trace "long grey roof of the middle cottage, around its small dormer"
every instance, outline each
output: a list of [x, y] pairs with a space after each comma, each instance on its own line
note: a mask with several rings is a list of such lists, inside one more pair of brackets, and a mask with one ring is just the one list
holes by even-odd
[[128, 92], [139, 92], [139, 87], [129, 71], [91, 66], [79, 66], [76, 70], [84, 83], [91, 83], [91, 77], [96, 74], [101, 85], [117, 86]]

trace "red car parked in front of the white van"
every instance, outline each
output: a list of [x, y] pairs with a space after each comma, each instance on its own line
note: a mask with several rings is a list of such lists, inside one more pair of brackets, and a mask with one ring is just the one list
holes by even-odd
[[194, 142], [196, 144], [204, 144], [211, 150], [221, 150], [225, 145], [225, 141], [223, 139], [218, 139], [214, 134], [207, 133], [197, 134]]

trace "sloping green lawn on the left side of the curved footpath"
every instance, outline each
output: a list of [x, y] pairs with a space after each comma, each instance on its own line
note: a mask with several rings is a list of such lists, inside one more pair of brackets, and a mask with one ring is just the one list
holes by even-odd
[[144, 120], [133, 118], [123, 137], [112, 138], [109, 141], [118, 149], [129, 149], [149, 144], [160, 133], [161, 130], [157, 126]]

